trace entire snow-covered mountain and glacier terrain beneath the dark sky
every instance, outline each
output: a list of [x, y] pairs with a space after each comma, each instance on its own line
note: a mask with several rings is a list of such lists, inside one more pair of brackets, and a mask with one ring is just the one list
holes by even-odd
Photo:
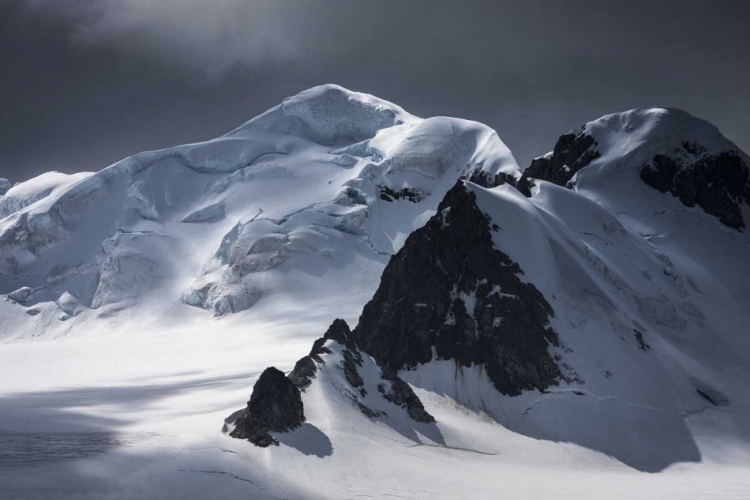
[[550, 147], [324, 85], [0, 182], [0, 498], [750, 498], [750, 157]]

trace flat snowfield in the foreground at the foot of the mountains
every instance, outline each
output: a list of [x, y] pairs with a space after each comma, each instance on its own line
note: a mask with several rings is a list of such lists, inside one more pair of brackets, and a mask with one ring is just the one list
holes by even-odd
[[721, 410], [685, 420], [701, 462], [658, 474], [524, 437], [422, 391], [444, 445], [419, 436], [420, 446], [356, 411], [310, 418], [279, 448], [223, 434], [221, 421], [260, 368], [290, 369], [310, 340], [258, 321], [3, 345], [0, 497], [741, 499], [750, 491], [748, 450], [706, 430]]

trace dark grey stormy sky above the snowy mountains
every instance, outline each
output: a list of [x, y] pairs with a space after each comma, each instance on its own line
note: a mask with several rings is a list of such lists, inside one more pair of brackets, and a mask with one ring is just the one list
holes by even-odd
[[750, 1], [0, 0], [0, 176], [98, 170], [338, 83], [495, 128], [686, 109], [750, 151]]

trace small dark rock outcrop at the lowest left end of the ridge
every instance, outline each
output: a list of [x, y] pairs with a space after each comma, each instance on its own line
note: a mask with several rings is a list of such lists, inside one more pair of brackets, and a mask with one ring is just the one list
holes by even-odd
[[278, 445], [270, 432], [296, 429], [305, 421], [302, 397], [282, 371], [266, 368], [253, 387], [245, 413], [235, 422], [232, 437], [261, 447]]

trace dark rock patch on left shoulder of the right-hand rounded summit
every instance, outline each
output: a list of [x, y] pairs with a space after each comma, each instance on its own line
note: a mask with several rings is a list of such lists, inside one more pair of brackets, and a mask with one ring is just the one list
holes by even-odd
[[551, 155], [531, 162], [523, 179], [532, 177], [566, 186], [576, 172], [601, 156], [596, 145], [596, 140], [584, 132], [562, 135]]

